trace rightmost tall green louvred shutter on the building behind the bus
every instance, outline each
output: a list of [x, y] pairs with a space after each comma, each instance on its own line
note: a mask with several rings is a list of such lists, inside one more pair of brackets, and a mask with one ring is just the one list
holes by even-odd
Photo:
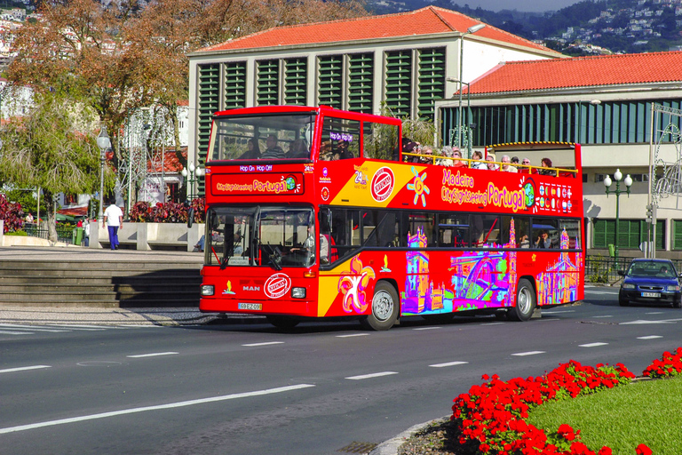
[[436, 100], [445, 97], [444, 47], [419, 51], [418, 78], [417, 111], [419, 117], [432, 120]]

